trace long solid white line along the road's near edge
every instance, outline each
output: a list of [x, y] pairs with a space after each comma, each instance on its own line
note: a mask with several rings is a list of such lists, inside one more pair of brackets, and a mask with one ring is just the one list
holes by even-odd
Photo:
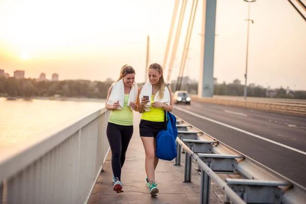
[[234, 126], [232, 126], [232, 125], [228, 125], [228, 124], [225, 124], [225, 123], [223, 123], [223, 122], [219, 122], [219, 121], [217, 121], [217, 120], [214, 120], [214, 119], [211, 119], [211, 118], [208, 118], [208, 117], [205, 117], [205, 116], [201, 116], [201, 115], [199, 115], [199, 114], [193, 113], [193, 112], [191, 112], [191, 111], [187, 111], [187, 110], [182, 109], [182, 108], [177, 107], [177, 106], [173, 106], [173, 108], [174, 108], [174, 109], [177, 109], [177, 110], [180, 110], [180, 111], [183, 111], [183, 112], [185, 112], [185, 113], [188, 113], [188, 114], [190, 114], [190, 115], [193, 115], [193, 116], [195, 116], [195, 117], [198, 117], [198, 118], [201, 118], [201, 119], [204, 119], [204, 120], [208, 120], [208, 121], [211, 121], [211, 122], [214, 122], [214, 123], [223, 125], [223, 126], [225, 126], [225, 127], [231, 128], [231, 129], [236, 130], [236, 131], [239, 131], [239, 132], [241, 132], [241, 133], [244, 133], [244, 134], [247, 134], [247, 135], [250, 135], [250, 136], [253, 136], [253, 137], [262, 139], [262, 140], [265, 140], [265, 141], [270, 142], [270, 143], [272, 143], [272, 144], [276, 144], [276, 145], [278, 145], [278, 146], [281, 146], [281, 147], [290, 149], [290, 150], [292, 150], [292, 151], [299, 152], [300, 154], [306, 155], [306, 152], [304, 152], [304, 151], [301, 151], [301, 150], [299, 150], [299, 149], [293, 148], [293, 147], [288, 146], [288, 145], [286, 145], [286, 144], [282, 144], [282, 143], [279, 143], [279, 142], [275, 142], [275, 141], [270, 140], [270, 139], [267, 139], [267, 138], [265, 138], [265, 137], [262, 137], [262, 136], [259, 136], [259, 135], [256, 135], [256, 134], [253, 134], [253, 133], [244, 131], [244, 130], [242, 130], [242, 129], [239, 129], [238, 127], [234, 127]]

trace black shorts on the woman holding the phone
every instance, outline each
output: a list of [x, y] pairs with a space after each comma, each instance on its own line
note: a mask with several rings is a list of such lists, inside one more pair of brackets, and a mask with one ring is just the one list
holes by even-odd
[[142, 137], [155, 137], [158, 132], [164, 130], [164, 122], [153, 122], [148, 120], [140, 120], [139, 133]]

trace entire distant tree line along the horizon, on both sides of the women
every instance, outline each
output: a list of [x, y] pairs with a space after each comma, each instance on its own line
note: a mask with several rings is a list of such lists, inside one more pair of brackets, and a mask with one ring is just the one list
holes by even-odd
[[[37, 81], [36, 79], [20, 79], [0, 76], [0, 96], [2, 97], [52, 97], [56, 94], [62, 97], [87, 97], [106, 98], [107, 92], [114, 81], [107, 79], [105, 82], [89, 80], [64, 80], [64, 81]], [[143, 84], [138, 84], [140, 87]], [[182, 90], [197, 94], [197, 83], [184, 84]], [[171, 84], [172, 91], [175, 84]], [[243, 96], [244, 86], [235, 84], [214, 85], [214, 95]], [[261, 87], [247, 87], [247, 95], [253, 97], [267, 97], [266, 89]], [[274, 95], [275, 98], [306, 99], [306, 91], [287, 93], [280, 88]]]

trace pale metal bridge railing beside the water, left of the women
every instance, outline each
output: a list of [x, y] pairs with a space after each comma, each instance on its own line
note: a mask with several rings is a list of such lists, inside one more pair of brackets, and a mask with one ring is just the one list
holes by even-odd
[[0, 151], [0, 203], [84, 203], [109, 151], [109, 111], [96, 109]]

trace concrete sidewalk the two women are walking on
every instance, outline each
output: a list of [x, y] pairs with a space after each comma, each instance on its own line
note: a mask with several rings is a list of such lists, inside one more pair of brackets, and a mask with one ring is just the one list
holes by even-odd
[[[134, 135], [126, 152], [126, 160], [122, 168], [122, 193], [113, 191], [111, 152], [106, 160], [104, 171], [98, 177], [88, 203], [199, 203], [200, 175], [192, 169], [192, 183], [184, 183], [184, 160], [181, 166], [174, 166], [174, 161], [160, 160], [155, 177], [159, 194], [151, 197], [145, 182], [145, 152], [139, 136], [141, 115], [134, 114]], [[211, 184], [211, 204], [222, 203], [223, 193], [213, 182]]]

